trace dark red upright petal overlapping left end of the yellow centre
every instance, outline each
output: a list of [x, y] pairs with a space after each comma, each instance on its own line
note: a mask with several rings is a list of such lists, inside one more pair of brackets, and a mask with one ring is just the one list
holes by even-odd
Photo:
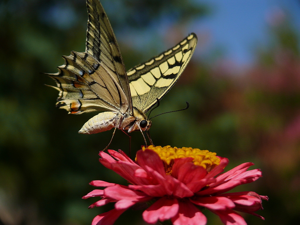
[[[157, 171], [162, 176], [166, 176], [164, 164], [161, 158], [152, 150], [145, 149], [145, 151], [139, 150], [137, 152], [137, 162], [144, 170], [147, 171], [147, 167]], [[147, 167], [146, 167], [147, 166]]]

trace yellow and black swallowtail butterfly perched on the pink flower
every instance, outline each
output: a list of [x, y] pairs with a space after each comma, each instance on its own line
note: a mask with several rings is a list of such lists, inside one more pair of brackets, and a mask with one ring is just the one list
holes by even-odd
[[[79, 133], [116, 128], [148, 131], [146, 114], [170, 90], [186, 67], [197, 43], [190, 34], [176, 46], [126, 72], [108, 17], [98, 0], [86, 0], [85, 52], [72, 51], [52, 77], [59, 91], [56, 107], [71, 114], [101, 111]], [[145, 137], [144, 137], [145, 140]], [[145, 140], [146, 142], [146, 140]]]

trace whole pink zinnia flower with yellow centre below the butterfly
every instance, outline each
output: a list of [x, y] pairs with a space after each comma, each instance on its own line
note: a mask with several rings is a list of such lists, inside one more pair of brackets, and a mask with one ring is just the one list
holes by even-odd
[[267, 196], [251, 191], [225, 193], [262, 176], [259, 169], [247, 171], [253, 163], [222, 173], [228, 159], [208, 150], [148, 146], [137, 152], [136, 162], [121, 150], [108, 152], [110, 155], [100, 152], [101, 164], [131, 184], [99, 180], [90, 183], [105, 188], [82, 197], [101, 197], [89, 208], [116, 202], [114, 209], [96, 216], [92, 225], [113, 224], [125, 210], [138, 203], [150, 205], [143, 212], [143, 219], [150, 224], [169, 220], [173, 225], [205, 225], [207, 219], [202, 213], [205, 208], [217, 214], [226, 225], [247, 224], [236, 211], [264, 219], [254, 212], [262, 209], [261, 199], [268, 200]]

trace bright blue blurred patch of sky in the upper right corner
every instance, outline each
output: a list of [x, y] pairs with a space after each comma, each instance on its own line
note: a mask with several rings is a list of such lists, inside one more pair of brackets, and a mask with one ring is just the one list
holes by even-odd
[[[300, 1], [297, 0], [194, 0], [212, 6], [211, 15], [196, 22], [210, 32], [210, 45], [222, 46], [225, 57], [243, 65], [253, 61], [254, 45], [267, 45], [274, 13], [284, 13], [300, 32]], [[282, 11], [281, 11], [282, 10]]]

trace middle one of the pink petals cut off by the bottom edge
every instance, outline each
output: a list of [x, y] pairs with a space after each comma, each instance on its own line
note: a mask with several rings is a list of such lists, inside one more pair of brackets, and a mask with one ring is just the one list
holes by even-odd
[[205, 225], [206, 217], [191, 202], [179, 202], [179, 211], [171, 218], [173, 225]]

